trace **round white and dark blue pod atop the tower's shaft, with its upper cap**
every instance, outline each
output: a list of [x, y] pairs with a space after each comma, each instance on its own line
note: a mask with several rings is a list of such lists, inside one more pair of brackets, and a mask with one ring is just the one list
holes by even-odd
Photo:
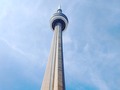
[[67, 28], [68, 25], [68, 18], [65, 14], [62, 13], [62, 9], [58, 8], [57, 12], [53, 14], [53, 16], [50, 19], [50, 25], [52, 29], [54, 30], [57, 23], [61, 23], [62, 25], [62, 31]]

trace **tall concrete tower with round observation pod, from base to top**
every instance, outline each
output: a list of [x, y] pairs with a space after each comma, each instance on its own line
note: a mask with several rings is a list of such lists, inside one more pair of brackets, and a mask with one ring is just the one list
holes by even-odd
[[65, 90], [62, 32], [68, 19], [61, 8], [51, 17], [50, 25], [54, 35], [41, 90]]

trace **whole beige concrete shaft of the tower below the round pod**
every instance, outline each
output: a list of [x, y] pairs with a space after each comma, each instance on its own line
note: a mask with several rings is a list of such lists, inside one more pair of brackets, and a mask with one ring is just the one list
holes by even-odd
[[57, 23], [41, 90], [65, 90], [62, 28]]

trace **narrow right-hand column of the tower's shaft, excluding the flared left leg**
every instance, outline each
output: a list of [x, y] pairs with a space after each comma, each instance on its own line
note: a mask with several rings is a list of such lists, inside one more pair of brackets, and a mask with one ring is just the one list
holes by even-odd
[[56, 65], [55, 65], [55, 74], [54, 74], [55, 75], [54, 90], [65, 90], [61, 23], [57, 23], [57, 25], [55, 26], [55, 32], [57, 33], [57, 47], [56, 47]]

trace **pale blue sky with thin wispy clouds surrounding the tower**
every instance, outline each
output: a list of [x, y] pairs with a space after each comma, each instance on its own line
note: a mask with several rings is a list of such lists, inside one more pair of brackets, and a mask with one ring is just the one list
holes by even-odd
[[40, 90], [59, 3], [66, 90], [120, 90], [120, 0], [0, 0], [0, 90]]

